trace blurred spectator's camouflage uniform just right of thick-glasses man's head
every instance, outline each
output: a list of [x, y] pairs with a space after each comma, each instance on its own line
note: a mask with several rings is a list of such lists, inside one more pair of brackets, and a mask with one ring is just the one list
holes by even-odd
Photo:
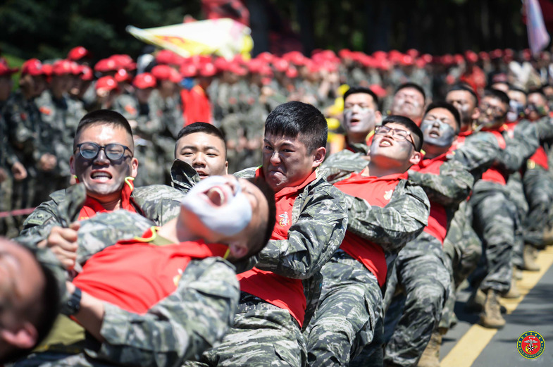
[[163, 125], [161, 118], [154, 113], [156, 111], [154, 101], [150, 99], [147, 104], [139, 104], [136, 97], [131, 94], [121, 94], [115, 100], [113, 110], [121, 113], [127, 120], [137, 122], [137, 127], [133, 130], [134, 153], [139, 161], [140, 168], [135, 178], [135, 186], [164, 183], [164, 151], [157, 144], [154, 144], [154, 139], [162, 132]]

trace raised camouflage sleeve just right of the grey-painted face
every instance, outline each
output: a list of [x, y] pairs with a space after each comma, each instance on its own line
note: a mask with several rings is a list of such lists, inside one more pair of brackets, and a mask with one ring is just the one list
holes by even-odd
[[464, 144], [448, 156], [459, 161], [472, 173], [483, 173], [499, 156], [501, 148], [490, 132], [469, 135]]

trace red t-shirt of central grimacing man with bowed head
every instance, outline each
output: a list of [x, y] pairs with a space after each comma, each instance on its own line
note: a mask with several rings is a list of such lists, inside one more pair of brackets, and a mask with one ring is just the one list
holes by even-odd
[[[256, 177], [263, 177], [263, 171], [258, 168]], [[304, 187], [316, 179], [313, 171], [304, 182], [296, 187], [285, 187], [275, 193], [276, 220], [271, 240], [287, 240], [288, 230], [292, 226], [292, 208], [294, 201]], [[307, 301], [302, 280], [286, 278], [271, 271], [253, 268], [237, 275], [240, 290], [253, 294], [270, 304], [287, 309], [292, 316], [303, 325]]]

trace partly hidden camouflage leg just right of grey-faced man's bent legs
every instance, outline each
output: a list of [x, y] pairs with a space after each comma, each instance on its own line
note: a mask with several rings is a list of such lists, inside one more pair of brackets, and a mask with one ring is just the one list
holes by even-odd
[[442, 310], [440, 328], [449, 329], [454, 321], [454, 307], [459, 285], [468, 278], [482, 256], [482, 242], [472, 227], [472, 208], [463, 201], [455, 212], [444, 240], [444, 254], [451, 276], [451, 292]]

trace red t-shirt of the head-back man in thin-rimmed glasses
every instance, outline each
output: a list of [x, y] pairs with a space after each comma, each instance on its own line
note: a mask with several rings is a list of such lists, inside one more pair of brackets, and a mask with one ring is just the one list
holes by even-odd
[[[406, 179], [407, 173], [396, 175], [386, 175], [383, 177], [363, 176], [360, 173], [354, 173], [346, 180], [334, 184], [344, 194], [352, 197], [365, 199], [368, 204], [384, 207], [392, 199], [394, 189], [399, 180]], [[378, 280], [378, 285], [382, 287], [386, 281], [387, 263], [384, 250], [379, 244], [365, 240], [352, 232], [346, 231], [346, 235], [340, 249], [344, 250], [349, 256], [362, 263]]]

